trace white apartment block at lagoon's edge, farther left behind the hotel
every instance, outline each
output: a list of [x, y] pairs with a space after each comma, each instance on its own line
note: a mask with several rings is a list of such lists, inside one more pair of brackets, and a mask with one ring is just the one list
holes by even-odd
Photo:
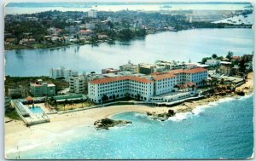
[[50, 78], [64, 78], [67, 82], [69, 81], [69, 78], [72, 76], [78, 76], [79, 72], [67, 69], [63, 66], [59, 68], [50, 68], [49, 69], [49, 77]]

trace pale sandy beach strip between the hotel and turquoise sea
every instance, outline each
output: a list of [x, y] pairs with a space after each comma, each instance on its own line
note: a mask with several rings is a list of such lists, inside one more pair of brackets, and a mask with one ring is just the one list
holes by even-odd
[[[253, 72], [248, 74], [247, 82], [237, 88], [244, 90], [247, 94], [253, 93]], [[122, 106], [105, 106], [79, 112], [69, 112], [63, 114], [50, 114], [50, 123], [36, 124], [26, 127], [22, 121], [11, 121], [4, 124], [5, 133], [5, 153], [19, 152], [26, 147], [39, 145], [49, 141], [55, 141], [56, 136], [83, 126], [88, 128], [88, 134], [96, 131], [94, 122], [97, 119], [109, 118], [114, 114], [121, 112], [167, 112], [172, 108], [175, 112], [188, 112], [196, 106], [207, 105], [209, 102], [218, 101], [227, 96], [212, 96], [200, 101], [191, 101], [174, 107], [142, 106], [142, 105], [122, 105]]]

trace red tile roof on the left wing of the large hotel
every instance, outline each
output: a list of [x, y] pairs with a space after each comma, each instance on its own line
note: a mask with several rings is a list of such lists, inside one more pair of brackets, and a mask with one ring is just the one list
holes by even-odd
[[138, 78], [138, 77], [132, 77], [132, 76], [123, 76], [118, 78], [98, 78], [91, 80], [90, 83], [110, 83], [110, 82], [116, 82], [119, 80], [134, 80], [136, 82], [141, 83], [151, 83], [153, 81], [147, 79], [147, 78]]

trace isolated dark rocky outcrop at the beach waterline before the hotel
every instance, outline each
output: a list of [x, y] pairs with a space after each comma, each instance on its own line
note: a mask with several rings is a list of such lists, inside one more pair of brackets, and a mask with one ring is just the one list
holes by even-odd
[[110, 118], [103, 118], [97, 120], [94, 125], [96, 126], [96, 129], [108, 129], [113, 126], [122, 126], [125, 124], [131, 124], [131, 121], [125, 121], [125, 120], [113, 120]]

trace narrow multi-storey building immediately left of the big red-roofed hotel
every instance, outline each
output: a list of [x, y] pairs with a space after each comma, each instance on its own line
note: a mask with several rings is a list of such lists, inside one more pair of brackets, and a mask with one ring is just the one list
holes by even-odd
[[86, 75], [70, 77], [69, 91], [71, 93], [82, 94], [87, 86]]

